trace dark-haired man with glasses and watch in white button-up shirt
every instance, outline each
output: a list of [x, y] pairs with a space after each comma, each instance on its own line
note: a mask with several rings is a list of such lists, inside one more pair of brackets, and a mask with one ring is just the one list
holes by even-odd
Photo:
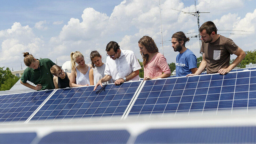
[[115, 85], [120, 85], [123, 82], [134, 80], [139, 80], [139, 69], [141, 65], [138, 59], [131, 50], [122, 50], [117, 42], [111, 41], [106, 46], [107, 60], [105, 68], [105, 77], [100, 79], [94, 90], [102, 82], [107, 82], [111, 78], [113, 79]]

